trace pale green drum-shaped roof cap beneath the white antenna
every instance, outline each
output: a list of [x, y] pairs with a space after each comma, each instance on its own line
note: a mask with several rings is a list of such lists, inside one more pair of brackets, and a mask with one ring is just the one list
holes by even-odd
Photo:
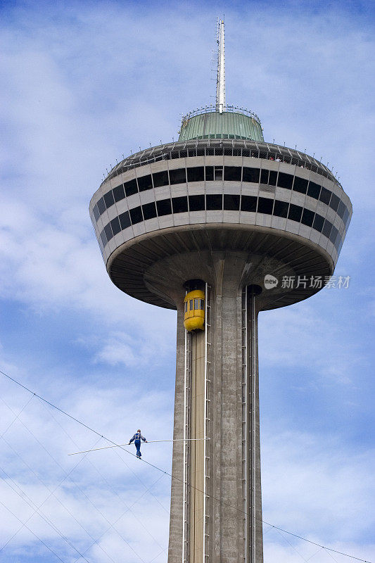
[[205, 106], [182, 118], [179, 141], [189, 139], [251, 139], [264, 141], [258, 115], [245, 108]]

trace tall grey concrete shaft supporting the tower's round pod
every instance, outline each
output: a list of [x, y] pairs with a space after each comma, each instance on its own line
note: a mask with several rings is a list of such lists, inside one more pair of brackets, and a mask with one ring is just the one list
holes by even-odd
[[[258, 311], [247, 312], [247, 396], [246, 448], [249, 460], [243, 481], [243, 304], [241, 269], [235, 260], [215, 263], [215, 284], [210, 290], [208, 364], [208, 534], [203, 550], [203, 442], [189, 445], [189, 527], [186, 563], [263, 563], [262, 506], [260, 485], [260, 435], [258, 391]], [[250, 315], [251, 316], [251, 315]], [[189, 437], [203, 437], [204, 422], [204, 333], [191, 338], [191, 388], [189, 392]], [[252, 368], [250, 366], [253, 366]], [[177, 374], [174, 437], [184, 435], [184, 328], [178, 314]], [[178, 413], [178, 414], [177, 414]], [[251, 464], [253, 462], [253, 465]], [[183, 448], [175, 442], [172, 472], [183, 479]], [[253, 469], [252, 469], [253, 468]], [[182, 477], [181, 477], [182, 476]], [[183, 487], [172, 479], [170, 546], [168, 563], [184, 563]], [[244, 498], [248, 498], [247, 526], [244, 526]], [[253, 547], [254, 546], [254, 547]]]

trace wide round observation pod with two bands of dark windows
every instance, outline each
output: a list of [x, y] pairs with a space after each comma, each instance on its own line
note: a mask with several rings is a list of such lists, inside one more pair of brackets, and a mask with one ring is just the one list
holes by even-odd
[[[191, 139], [122, 160], [91, 198], [90, 215], [113, 283], [142, 301], [176, 308], [174, 295], [186, 279], [210, 281], [210, 272], [196, 269], [196, 253], [205, 253], [208, 268], [212, 253], [241, 253], [260, 285], [272, 272], [279, 279], [329, 277], [352, 205], [312, 156], [244, 139]], [[265, 255], [268, 262], [257, 267]], [[181, 279], [171, 273], [164, 286], [163, 270], [177, 262]], [[319, 289], [279, 284], [262, 294], [262, 308], [289, 305]]]

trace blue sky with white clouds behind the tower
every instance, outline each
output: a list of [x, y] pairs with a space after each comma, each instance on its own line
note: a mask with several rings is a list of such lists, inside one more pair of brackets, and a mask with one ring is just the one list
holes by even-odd
[[[227, 101], [333, 165], [354, 208], [348, 289], [260, 315], [264, 519], [374, 562], [374, 2], [0, 11], [0, 369], [117, 443], [172, 435], [175, 314], [110, 283], [88, 205], [116, 158], [212, 102], [224, 13]], [[1, 374], [0, 407], [1, 561], [167, 561], [168, 476], [122, 450], [69, 457], [108, 442]], [[170, 445], [145, 454], [170, 471]], [[264, 531], [265, 563], [354, 561]]]

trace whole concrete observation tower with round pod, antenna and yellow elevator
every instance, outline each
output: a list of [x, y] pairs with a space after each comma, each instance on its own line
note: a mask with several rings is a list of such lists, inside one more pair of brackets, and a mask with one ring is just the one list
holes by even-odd
[[227, 105], [221, 20], [217, 44], [215, 106], [89, 205], [113, 283], [177, 310], [169, 563], [262, 563], [258, 313], [324, 286], [352, 215], [327, 167]]

